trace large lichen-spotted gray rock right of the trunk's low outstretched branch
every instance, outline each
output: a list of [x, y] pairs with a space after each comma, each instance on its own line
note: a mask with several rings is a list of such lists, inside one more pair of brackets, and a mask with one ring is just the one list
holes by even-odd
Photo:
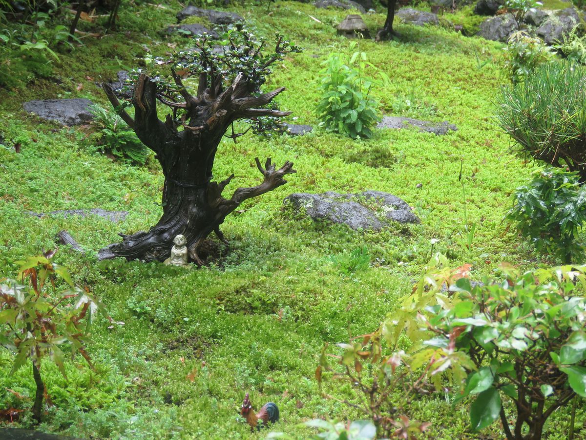
[[[380, 211], [378, 215], [372, 208], [361, 203], [364, 199], [374, 199]], [[292, 204], [297, 212], [305, 209], [307, 215], [314, 220], [329, 220], [352, 229], [381, 231], [388, 226], [386, 220], [420, 223], [420, 219], [413, 214], [405, 201], [381, 191], [364, 191], [360, 194], [338, 194], [332, 191], [323, 194], [298, 192], [286, 197], [284, 202]]]

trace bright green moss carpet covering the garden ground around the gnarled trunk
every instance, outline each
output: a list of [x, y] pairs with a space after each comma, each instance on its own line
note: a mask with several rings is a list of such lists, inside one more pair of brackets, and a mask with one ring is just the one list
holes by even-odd
[[[143, 4], [122, 9], [121, 31], [84, 39], [60, 54], [55, 78], [26, 89], [0, 91], [0, 275], [13, 276], [15, 261], [54, 246], [67, 229], [86, 256], [68, 249], [56, 261], [69, 266], [76, 282], [100, 296], [124, 325], [94, 327], [90, 353], [97, 371], [81, 358], [67, 364], [69, 381], [43, 365], [54, 406], [41, 429], [98, 438], [263, 438], [250, 434], [237, 414], [246, 392], [256, 407], [276, 402], [275, 430], [306, 438], [299, 423], [315, 417], [356, 419], [359, 414], [319, 395], [314, 378], [325, 342], [366, 333], [392, 312], [435, 251], [454, 265], [472, 263], [473, 277], [492, 273], [498, 262], [522, 267], [555, 263], [537, 257], [505, 232], [502, 218], [510, 193], [530, 177], [532, 167], [508, 153], [509, 139], [493, 126], [493, 100], [502, 83], [500, 45], [437, 28], [397, 25], [400, 42], [360, 42], [369, 61], [391, 79], [374, 87], [384, 113], [447, 120], [458, 126], [448, 136], [416, 130], [377, 130], [374, 138], [349, 138], [314, 130], [303, 137], [224, 140], [214, 175], [234, 172], [231, 188], [254, 185], [254, 157], [292, 160], [297, 174], [284, 187], [246, 202], [229, 216], [223, 232], [229, 249], [217, 265], [183, 270], [159, 263], [96, 263], [97, 249], [118, 241], [118, 232], [148, 229], [161, 214], [163, 177], [155, 161], [147, 167], [113, 163], [92, 154], [83, 133], [25, 113], [23, 101], [87, 97], [107, 104], [96, 85], [115, 72], [137, 67], [145, 57], [188, 47], [189, 39], [159, 32], [175, 23], [176, 2], [164, 8]], [[295, 122], [316, 126], [321, 62], [333, 50], [350, 55], [333, 25], [344, 11], [277, 2], [233, 8], [258, 35], [279, 29], [306, 48], [275, 69], [267, 87], [286, 86], [281, 107]], [[366, 15], [371, 33], [383, 14]], [[85, 23], [87, 30], [90, 24]], [[372, 72], [372, 75], [375, 75]], [[56, 80], [56, 78], [58, 80]], [[21, 144], [21, 153], [11, 145]], [[386, 166], [376, 165], [372, 154]], [[459, 172], [462, 167], [462, 180]], [[421, 184], [421, 188], [417, 188]], [[462, 185], [463, 184], [463, 185]], [[373, 233], [315, 223], [292, 215], [282, 199], [292, 192], [387, 191], [406, 200], [421, 225], [393, 226]], [[36, 218], [27, 211], [104, 208], [130, 212], [121, 224], [100, 218]], [[465, 218], [475, 222], [471, 249], [457, 241]], [[372, 266], [344, 276], [328, 256], [367, 246]], [[26, 408], [34, 395], [28, 368], [8, 375], [11, 357], [0, 351], [0, 407]], [[23, 396], [17, 397], [7, 388]], [[346, 388], [338, 397], [352, 395]], [[471, 434], [468, 408], [451, 407], [444, 395], [422, 397], [410, 417], [430, 421], [424, 438], [479, 438]], [[577, 425], [585, 419], [578, 409]], [[28, 415], [21, 425], [31, 424]], [[568, 415], [559, 411], [547, 425], [548, 438], [565, 438]], [[502, 438], [498, 425], [482, 438]]]

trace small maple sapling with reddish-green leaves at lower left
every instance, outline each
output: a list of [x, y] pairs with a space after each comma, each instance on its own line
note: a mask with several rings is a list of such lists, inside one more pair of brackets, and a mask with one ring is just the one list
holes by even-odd
[[[75, 286], [67, 270], [51, 262], [53, 254], [19, 262], [18, 280], [8, 279], [0, 284], [0, 344], [15, 354], [12, 373], [27, 360], [32, 362], [36, 384], [32, 411], [38, 423], [45, 395], [40, 374], [42, 360], [49, 358], [67, 378], [62, 347], [69, 345], [72, 356], [80, 353], [93, 368], [86, 351], [90, 324], [97, 312], [107, 317], [96, 297]], [[60, 295], [56, 295], [57, 277], [69, 285]], [[52, 293], [49, 286], [53, 287]]]

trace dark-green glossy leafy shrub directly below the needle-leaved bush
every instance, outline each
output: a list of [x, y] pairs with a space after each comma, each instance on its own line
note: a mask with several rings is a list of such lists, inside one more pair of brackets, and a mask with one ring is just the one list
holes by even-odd
[[575, 172], [548, 168], [517, 188], [506, 220], [536, 246], [569, 264], [584, 254], [578, 232], [586, 221], [586, 189]]

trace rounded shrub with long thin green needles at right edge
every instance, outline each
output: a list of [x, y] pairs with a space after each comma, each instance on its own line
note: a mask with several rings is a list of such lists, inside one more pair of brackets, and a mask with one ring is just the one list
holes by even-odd
[[515, 141], [516, 152], [554, 167], [577, 171], [586, 181], [586, 70], [548, 63], [523, 83], [503, 87], [496, 124]]

